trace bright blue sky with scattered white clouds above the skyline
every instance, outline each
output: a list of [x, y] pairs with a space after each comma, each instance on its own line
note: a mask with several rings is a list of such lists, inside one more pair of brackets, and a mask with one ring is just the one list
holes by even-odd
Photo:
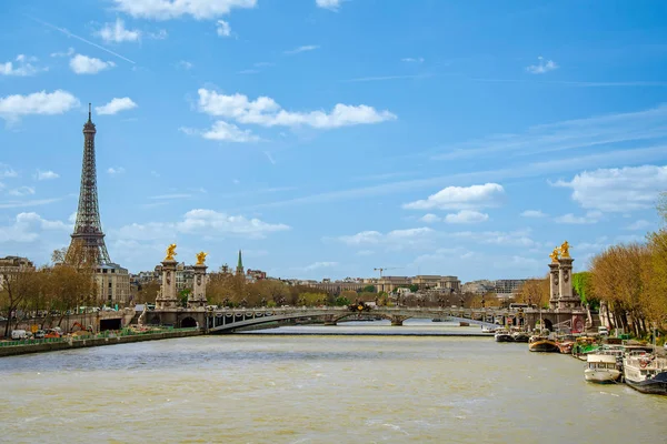
[[0, 255], [46, 263], [97, 124], [115, 262], [282, 278], [578, 270], [659, 226], [664, 1], [7, 1]]

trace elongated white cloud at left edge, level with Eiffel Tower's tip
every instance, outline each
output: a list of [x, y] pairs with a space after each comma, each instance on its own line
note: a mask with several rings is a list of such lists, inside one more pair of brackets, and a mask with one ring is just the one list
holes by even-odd
[[13, 120], [28, 114], [62, 114], [79, 105], [79, 100], [67, 91], [33, 92], [28, 95], [8, 95], [0, 99], [0, 115]]

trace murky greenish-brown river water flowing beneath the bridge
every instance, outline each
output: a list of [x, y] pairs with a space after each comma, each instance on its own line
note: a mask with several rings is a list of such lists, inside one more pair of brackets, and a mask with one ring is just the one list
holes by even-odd
[[345, 329], [378, 335], [276, 334], [316, 329], [297, 326], [3, 357], [0, 442], [667, 440], [667, 397], [588, 384], [569, 356], [490, 337], [382, 335], [472, 327], [365, 324]]

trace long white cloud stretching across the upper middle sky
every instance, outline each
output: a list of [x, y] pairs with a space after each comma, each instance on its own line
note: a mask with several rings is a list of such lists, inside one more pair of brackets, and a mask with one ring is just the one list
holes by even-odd
[[317, 129], [331, 129], [355, 124], [379, 123], [397, 119], [389, 111], [376, 111], [365, 104], [347, 105], [338, 103], [331, 112], [310, 111], [290, 112], [283, 110], [273, 99], [259, 97], [248, 100], [247, 95], [218, 94], [215, 91], [199, 89], [199, 109], [209, 115], [225, 117], [239, 123], [252, 123], [263, 127], [308, 125]]

